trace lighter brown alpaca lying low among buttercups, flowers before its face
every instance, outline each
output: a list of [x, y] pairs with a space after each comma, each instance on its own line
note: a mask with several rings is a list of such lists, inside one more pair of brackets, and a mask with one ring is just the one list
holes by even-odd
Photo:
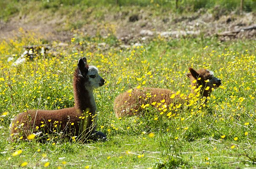
[[[191, 90], [195, 92], [200, 86], [200, 94], [202, 97], [208, 97], [212, 92], [212, 88], [216, 89], [221, 85], [221, 80], [214, 77], [213, 73], [207, 69], [195, 71], [189, 68], [189, 71], [190, 73], [187, 74], [187, 77], [189, 77], [192, 84]], [[187, 96], [179, 95], [169, 89], [143, 88], [128, 90], [115, 98], [114, 112], [116, 117], [140, 115], [140, 112], [143, 110], [143, 105], [157, 107], [158, 104], [156, 103], [161, 103], [163, 100], [167, 106], [170, 104], [188, 103], [186, 97]]]

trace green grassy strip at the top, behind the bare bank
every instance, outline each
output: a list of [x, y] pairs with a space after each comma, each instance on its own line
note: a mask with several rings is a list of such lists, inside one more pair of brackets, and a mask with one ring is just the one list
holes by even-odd
[[[101, 18], [105, 14], [104, 11], [116, 14], [119, 11], [130, 11], [131, 6], [145, 10], [154, 9], [154, 14], [163, 14], [163, 12], [168, 11], [187, 13], [189, 11], [198, 11], [201, 8], [212, 11], [214, 14], [216, 9], [212, 9], [215, 6], [219, 6], [218, 10], [221, 10], [222, 13], [226, 12], [228, 14], [230, 11], [238, 10], [240, 7], [240, 0], [179, 0], [177, 9], [175, 2], [175, 0], [9, 0], [7, 3], [7, 1], [2, 0], [0, 1], [0, 20], [8, 21], [13, 16], [21, 18], [23, 15], [26, 15], [28, 22], [38, 20], [39, 17], [44, 15], [44, 19], [48, 20], [57, 15], [62, 16], [63, 13], [76, 16], [76, 19], [79, 16], [84, 16], [88, 19], [90, 14], [96, 18]], [[244, 1], [244, 11], [255, 11], [255, 7], [255, 0]], [[77, 13], [82, 15], [76, 15]], [[67, 18], [66, 20], [69, 19]], [[80, 23], [78, 25], [87, 21], [84, 18], [79, 18], [79, 20]], [[71, 23], [74, 23], [74, 21], [70, 20]]]

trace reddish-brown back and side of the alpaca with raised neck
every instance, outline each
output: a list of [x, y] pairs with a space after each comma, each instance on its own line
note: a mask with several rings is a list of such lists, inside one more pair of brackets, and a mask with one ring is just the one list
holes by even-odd
[[[24, 139], [35, 132], [79, 132], [82, 122], [81, 111], [74, 107], [59, 110], [28, 110], [18, 114], [12, 121], [11, 133], [22, 133]], [[79, 118], [80, 117], [80, 118]], [[71, 127], [70, 126], [74, 126]], [[73, 128], [73, 129], [72, 129]], [[76, 129], [75, 129], [76, 128]]]

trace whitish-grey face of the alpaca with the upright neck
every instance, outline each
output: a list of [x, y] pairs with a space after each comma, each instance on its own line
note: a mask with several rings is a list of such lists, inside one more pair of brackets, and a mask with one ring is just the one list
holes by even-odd
[[87, 89], [93, 90], [104, 85], [105, 80], [99, 75], [95, 66], [89, 66], [87, 77], [88, 81], [85, 82]]

